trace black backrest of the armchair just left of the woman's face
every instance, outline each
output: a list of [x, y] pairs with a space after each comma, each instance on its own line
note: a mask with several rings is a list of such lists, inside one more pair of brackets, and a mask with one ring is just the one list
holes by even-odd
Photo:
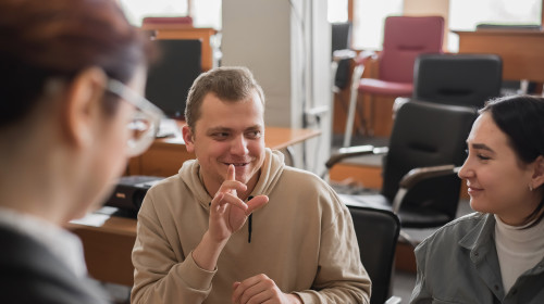
[[[403, 176], [412, 168], [462, 165], [466, 140], [477, 111], [467, 106], [409, 101], [397, 112], [384, 157], [382, 194], [393, 201]], [[440, 211], [455, 218], [460, 179], [450, 175], [422, 181], [407, 193], [401, 210]]]

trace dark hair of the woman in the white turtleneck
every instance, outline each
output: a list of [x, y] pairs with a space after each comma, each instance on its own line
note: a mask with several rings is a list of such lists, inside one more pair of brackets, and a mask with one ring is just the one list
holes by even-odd
[[[532, 96], [510, 96], [491, 100], [480, 110], [489, 112], [497, 127], [506, 134], [509, 144], [526, 164], [544, 156], [544, 99]], [[544, 193], [544, 186], [534, 191]], [[536, 219], [530, 227], [544, 217], [544, 194], [539, 206], [529, 215], [528, 221]], [[528, 227], [529, 228], [529, 227]]]

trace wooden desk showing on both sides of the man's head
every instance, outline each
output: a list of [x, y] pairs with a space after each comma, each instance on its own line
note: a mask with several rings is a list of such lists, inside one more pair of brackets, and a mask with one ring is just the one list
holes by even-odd
[[[180, 129], [184, 124], [178, 122]], [[282, 150], [320, 134], [314, 129], [265, 127], [264, 143], [269, 148]], [[195, 154], [187, 152], [181, 136], [158, 139], [146, 153], [131, 159], [128, 175], [171, 176], [177, 174], [182, 164], [191, 159], [195, 159]]]

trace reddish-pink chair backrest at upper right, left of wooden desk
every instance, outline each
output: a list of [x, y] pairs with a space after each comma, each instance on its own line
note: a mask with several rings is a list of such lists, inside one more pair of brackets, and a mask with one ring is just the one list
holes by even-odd
[[413, 62], [421, 53], [441, 53], [444, 18], [388, 16], [385, 18], [380, 79], [412, 83]]

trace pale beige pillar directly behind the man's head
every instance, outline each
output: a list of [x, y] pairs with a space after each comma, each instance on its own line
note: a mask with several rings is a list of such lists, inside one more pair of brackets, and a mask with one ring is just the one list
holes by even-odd
[[223, 1], [221, 65], [248, 66], [264, 89], [267, 124], [290, 125], [288, 1]]

